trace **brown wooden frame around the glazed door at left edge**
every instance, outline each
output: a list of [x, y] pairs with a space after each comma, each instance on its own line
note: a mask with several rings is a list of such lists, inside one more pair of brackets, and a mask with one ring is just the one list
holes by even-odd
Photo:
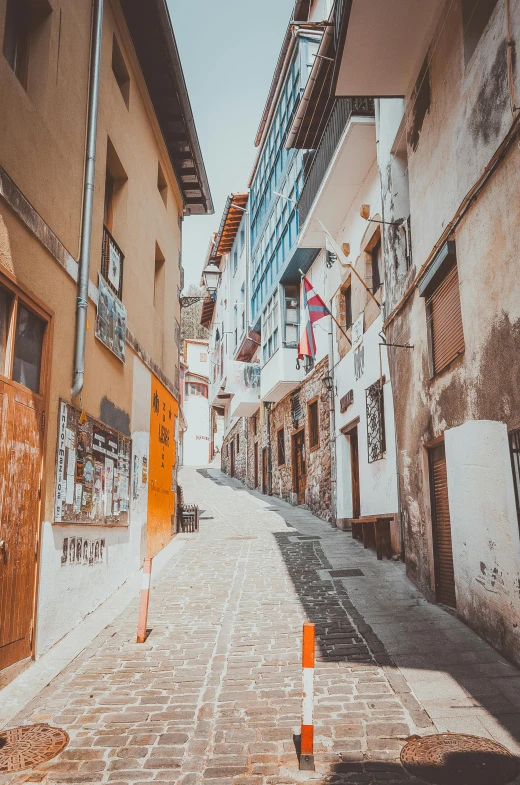
[[[40, 455], [40, 471], [39, 471], [39, 480], [40, 480], [40, 498], [38, 499], [38, 514], [36, 520], [36, 545], [37, 545], [37, 558], [36, 558], [36, 569], [34, 571], [34, 585], [33, 585], [33, 602], [32, 602], [32, 641], [31, 641], [31, 659], [34, 659], [34, 653], [36, 651], [36, 636], [37, 636], [37, 613], [38, 613], [38, 599], [39, 599], [39, 589], [40, 589], [40, 565], [41, 565], [41, 542], [42, 542], [42, 523], [43, 523], [43, 513], [45, 510], [45, 504], [47, 501], [47, 483], [45, 482], [46, 479], [46, 467], [47, 467], [47, 436], [48, 436], [48, 428], [49, 428], [49, 416], [48, 416], [48, 407], [49, 407], [49, 400], [50, 400], [50, 386], [51, 386], [51, 358], [52, 358], [52, 346], [53, 346], [53, 336], [54, 336], [54, 318], [55, 314], [52, 308], [49, 308], [46, 303], [43, 302], [39, 297], [37, 297], [30, 289], [28, 289], [24, 284], [22, 284], [18, 278], [13, 275], [9, 270], [3, 267], [0, 264], [0, 284], [11, 292], [17, 300], [21, 299], [24, 305], [26, 305], [29, 310], [33, 311], [37, 316], [43, 319], [47, 326], [45, 328], [45, 333], [43, 336], [43, 345], [42, 345], [42, 361], [41, 361], [41, 368], [40, 368], [40, 391], [39, 393], [33, 393], [37, 397], [41, 398], [42, 407], [43, 407], [43, 428], [41, 429], [41, 439], [42, 439], [42, 449]], [[17, 305], [11, 309], [10, 314], [10, 324], [9, 324], [9, 339], [8, 339], [8, 347], [7, 350], [10, 352], [14, 352], [14, 336], [13, 336], [13, 326], [16, 329], [16, 312], [17, 312]], [[11, 355], [12, 360], [12, 355]], [[12, 385], [15, 388], [23, 390], [27, 392], [27, 387], [24, 387], [22, 384], [18, 384], [18, 382], [14, 382], [12, 379], [8, 379], [6, 376], [0, 374], [0, 379], [5, 380], [8, 384]]]

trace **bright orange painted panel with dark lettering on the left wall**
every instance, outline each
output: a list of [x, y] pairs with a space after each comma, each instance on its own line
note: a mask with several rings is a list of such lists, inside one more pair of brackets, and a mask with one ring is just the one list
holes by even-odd
[[175, 420], [179, 406], [152, 376], [150, 466], [148, 473], [148, 556], [155, 556], [173, 534], [176, 491]]

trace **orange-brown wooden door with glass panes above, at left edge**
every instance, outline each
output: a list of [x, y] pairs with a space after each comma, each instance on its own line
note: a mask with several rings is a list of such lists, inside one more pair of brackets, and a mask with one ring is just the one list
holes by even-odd
[[0, 670], [33, 650], [47, 333], [0, 279]]

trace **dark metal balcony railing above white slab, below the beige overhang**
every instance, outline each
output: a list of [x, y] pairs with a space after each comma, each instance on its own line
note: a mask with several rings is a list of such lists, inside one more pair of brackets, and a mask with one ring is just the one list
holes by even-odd
[[325, 172], [352, 115], [374, 117], [374, 100], [372, 98], [338, 98], [336, 100], [298, 201], [300, 227], [303, 226], [311, 211]]

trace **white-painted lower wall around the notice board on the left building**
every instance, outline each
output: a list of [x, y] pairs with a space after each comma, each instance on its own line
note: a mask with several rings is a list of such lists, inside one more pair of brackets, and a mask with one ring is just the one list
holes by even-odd
[[[133, 357], [132, 449], [148, 454], [150, 430], [151, 374], [138, 357]], [[134, 488], [133, 466], [131, 489]], [[36, 630], [36, 656], [41, 656], [107, 599], [141, 566], [146, 527], [147, 488], [131, 494], [128, 527], [42, 524], [40, 582]], [[104, 539], [101, 563], [62, 566], [63, 540], [68, 537]]]

